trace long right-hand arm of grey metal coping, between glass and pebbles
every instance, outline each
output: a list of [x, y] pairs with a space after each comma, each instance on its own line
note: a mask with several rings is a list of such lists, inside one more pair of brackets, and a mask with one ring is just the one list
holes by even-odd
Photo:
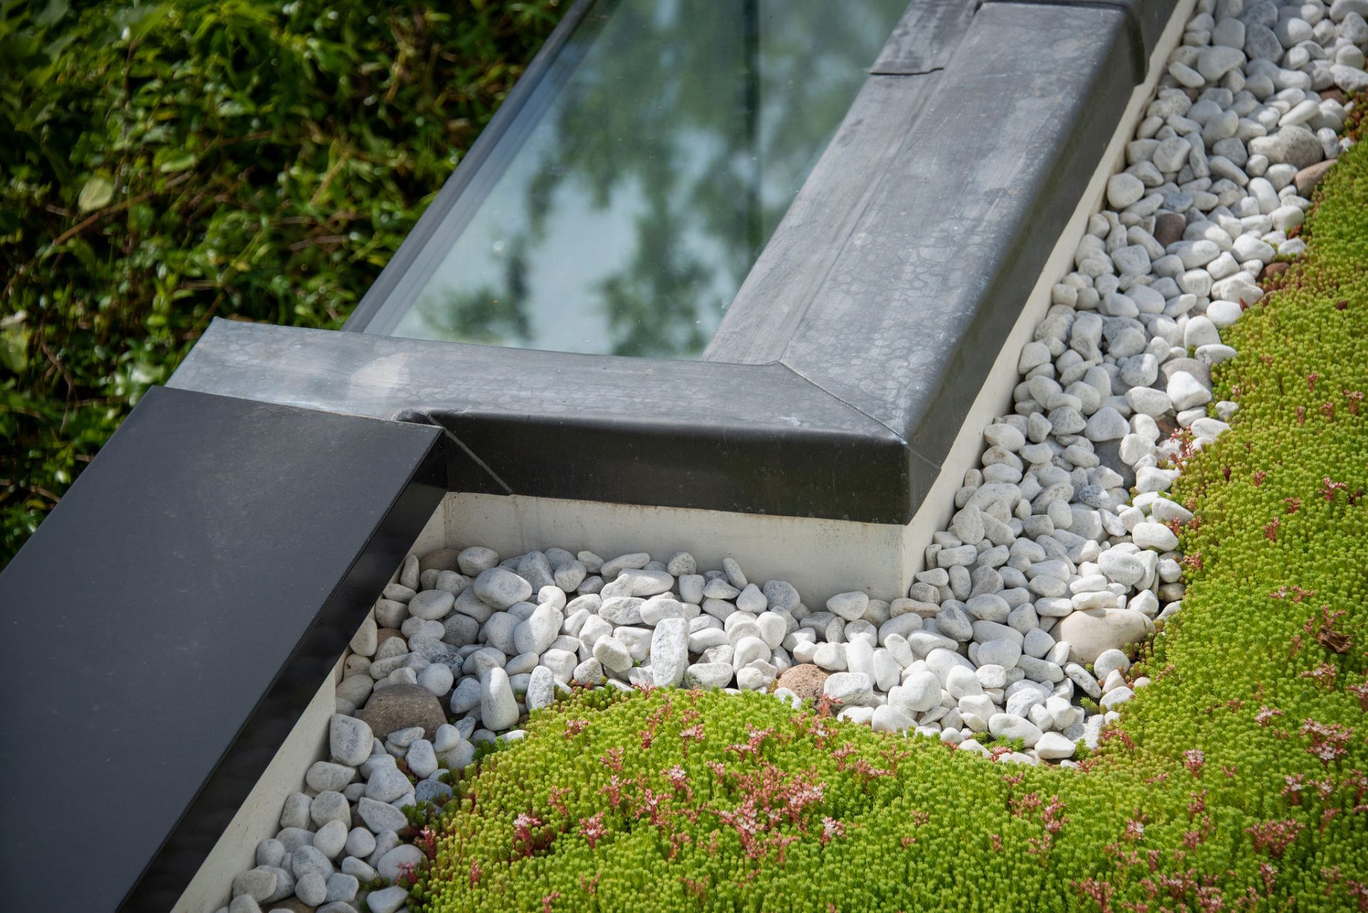
[[981, 8], [784, 364], [938, 462], [1130, 98], [1127, 31]]

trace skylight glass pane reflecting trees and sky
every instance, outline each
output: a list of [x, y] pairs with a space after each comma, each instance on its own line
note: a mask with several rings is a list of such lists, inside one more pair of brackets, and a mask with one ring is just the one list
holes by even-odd
[[906, 7], [599, 0], [428, 241], [393, 333], [696, 357]]

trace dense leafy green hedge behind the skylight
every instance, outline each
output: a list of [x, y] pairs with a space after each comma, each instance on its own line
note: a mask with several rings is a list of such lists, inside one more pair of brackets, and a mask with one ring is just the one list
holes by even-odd
[[213, 316], [338, 327], [561, 0], [0, 0], [0, 566]]

